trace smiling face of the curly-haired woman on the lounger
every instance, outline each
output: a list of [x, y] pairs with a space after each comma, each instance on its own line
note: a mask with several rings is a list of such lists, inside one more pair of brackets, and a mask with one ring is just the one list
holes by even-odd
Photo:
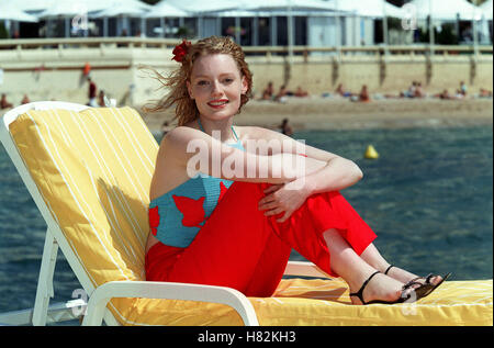
[[227, 54], [198, 58], [187, 87], [200, 114], [215, 121], [235, 115], [240, 106], [240, 94], [248, 88], [235, 60]]

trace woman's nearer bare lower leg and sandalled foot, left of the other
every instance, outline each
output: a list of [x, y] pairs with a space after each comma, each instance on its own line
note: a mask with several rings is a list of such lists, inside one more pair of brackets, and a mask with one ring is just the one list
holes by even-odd
[[[363, 282], [378, 269], [358, 256], [338, 231], [328, 229], [323, 236], [332, 256], [332, 269], [348, 283], [350, 292], [358, 292]], [[402, 294], [402, 287], [403, 282], [385, 274], [378, 274], [367, 284], [362, 296], [366, 302], [395, 301]], [[353, 304], [360, 304], [357, 296], [350, 299]]]

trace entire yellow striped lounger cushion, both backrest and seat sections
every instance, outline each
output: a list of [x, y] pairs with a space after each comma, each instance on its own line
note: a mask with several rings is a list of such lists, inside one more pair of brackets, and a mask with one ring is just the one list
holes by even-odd
[[[11, 133], [92, 285], [144, 280], [156, 141], [131, 108], [29, 111]], [[492, 280], [446, 282], [416, 304], [350, 305], [341, 280], [283, 280], [249, 299], [261, 325], [492, 325]], [[124, 325], [242, 325], [231, 307], [115, 299]]]

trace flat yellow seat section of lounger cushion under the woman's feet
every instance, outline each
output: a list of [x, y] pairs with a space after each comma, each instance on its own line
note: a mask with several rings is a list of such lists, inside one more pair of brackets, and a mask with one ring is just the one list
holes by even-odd
[[[272, 298], [249, 298], [268, 326], [492, 326], [492, 280], [447, 281], [409, 304], [352, 305], [348, 287], [335, 280], [282, 280]], [[220, 304], [139, 300], [130, 325], [242, 325]]]

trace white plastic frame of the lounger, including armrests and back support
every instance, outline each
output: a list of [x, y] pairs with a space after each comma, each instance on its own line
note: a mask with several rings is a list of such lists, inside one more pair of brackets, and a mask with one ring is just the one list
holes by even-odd
[[[258, 326], [259, 322], [250, 301], [239, 291], [226, 287], [151, 281], [111, 281], [94, 289], [65, 239], [60, 227], [49, 213], [9, 131], [10, 124], [29, 110], [65, 109], [79, 112], [87, 108], [89, 106], [67, 102], [32, 102], [10, 110], [0, 122], [0, 141], [47, 224], [34, 308], [0, 314], [0, 323], [41, 326], [53, 322], [75, 319], [83, 313], [82, 325], [101, 325], [103, 319], [106, 325], [120, 325], [113, 314], [106, 308], [108, 302], [113, 298], [147, 298], [226, 304], [240, 315], [246, 326]], [[89, 296], [88, 302], [85, 299], [76, 299], [66, 303], [49, 305], [49, 299], [54, 296], [53, 274], [58, 248], [61, 249]], [[289, 261], [284, 274], [328, 278], [314, 263], [304, 261]]]

